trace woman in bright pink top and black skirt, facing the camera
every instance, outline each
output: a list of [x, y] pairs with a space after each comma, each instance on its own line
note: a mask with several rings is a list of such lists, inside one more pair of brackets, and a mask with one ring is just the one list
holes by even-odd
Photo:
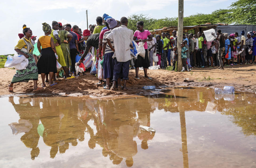
[[[152, 41], [153, 38], [148, 30], [143, 29], [144, 22], [143, 21], [138, 21], [137, 22], [137, 29], [133, 35], [133, 40], [136, 43], [143, 42], [144, 43], [144, 48], [145, 48], [145, 58], [142, 56], [138, 55], [138, 58], [135, 59], [134, 62], [134, 67], [136, 68], [136, 76], [135, 78], [139, 79], [138, 72], [139, 72], [139, 67], [143, 67], [144, 69], [144, 77], [147, 77], [148, 79], [151, 79], [151, 77], [147, 76], [147, 68], [149, 68], [149, 55], [147, 51], [147, 41]], [[147, 39], [148, 38], [148, 39]], [[137, 40], [136, 40], [137, 39]]]

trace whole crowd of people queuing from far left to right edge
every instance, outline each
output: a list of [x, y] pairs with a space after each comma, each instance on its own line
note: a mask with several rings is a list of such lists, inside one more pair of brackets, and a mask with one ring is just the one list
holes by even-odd
[[[149, 30], [144, 30], [144, 22], [137, 22], [135, 32], [127, 28], [128, 19], [122, 17], [120, 21], [103, 14], [96, 18], [97, 25], [90, 25], [89, 30], [81, 30], [77, 25], [62, 25], [53, 21], [51, 26], [42, 23], [43, 36], [32, 36], [32, 30], [23, 25], [23, 33], [18, 34], [20, 40], [14, 50], [19, 55], [24, 55], [29, 63], [26, 69], [17, 70], [11, 83], [9, 92], [13, 92], [13, 84], [17, 82], [34, 81], [33, 91], [38, 91], [48, 86], [56, 85], [56, 80], [61, 76], [71, 79], [82, 74], [76, 73], [76, 66], [83, 66], [87, 54], [91, 52], [95, 60], [96, 73], [102, 69], [103, 77], [99, 78], [98, 85], [103, 89], [127, 90], [126, 83], [129, 79], [129, 69], [135, 69], [135, 78], [139, 80], [138, 72], [142, 67], [144, 77], [152, 80], [147, 74], [150, 66], [159, 65], [160, 68], [172, 66], [177, 71], [178, 52], [177, 45], [181, 45], [182, 71], [193, 68], [218, 67], [237, 64], [253, 64], [256, 62], [256, 33], [238, 32], [228, 35], [217, 30], [217, 36], [212, 33], [214, 40], [207, 41], [204, 33], [198, 32], [183, 34], [183, 42], [177, 44], [177, 31], [171, 35], [163, 32], [161, 35], [152, 35]], [[143, 43], [145, 55], [137, 53], [135, 43]], [[136, 56], [135, 56], [136, 55]], [[76, 58], [79, 56], [80, 60]], [[153, 58], [157, 57], [158, 61]], [[102, 62], [102, 64], [99, 64]], [[57, 67], [61, 66], [61, 68]], [[93, 67], [91, 67], [93, 68]], [[60, 70], [63, 71], [60, 71]], [[41, 74], [42, 87], [37, 86], [38, 74]], [[85, 73], [83, 73], [85, 75]], [[98, 74], [99, 76], [99, 74]], [[123, 80], [123, 86], [121, 86]]]

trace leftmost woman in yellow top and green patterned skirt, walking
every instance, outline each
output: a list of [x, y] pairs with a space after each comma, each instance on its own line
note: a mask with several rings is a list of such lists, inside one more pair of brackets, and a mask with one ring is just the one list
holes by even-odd
[[13, 76], [11, 83], [8, 85], [9, 92], [13, 92], [14, 83], [28, 82], [29, 80], [34, 81], [33, 91], [42, 89], [41, 87], [37, 87], [38, 69], [33, 57], [34, 46], [31, 44], [32, 31], [30, 28], [27, 28], [25, 24], [23, 25], [23, 34], [25, 37], [18, 41], [18, 44], [14, 47], [14, 50], [18, 54], [24, 55], [28, 59], [29, 63], [26, 66], [26, 69], [16, 71], [16, 74]]

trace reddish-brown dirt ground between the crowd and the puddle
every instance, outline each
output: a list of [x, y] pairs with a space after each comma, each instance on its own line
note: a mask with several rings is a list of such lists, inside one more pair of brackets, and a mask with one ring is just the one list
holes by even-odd
[[[195, 68], [189, 72], [174, 72], [167, 70], [148, 70], [149, 80], [144, 76], [142, 70], [139, 71], [140, 79], [135, 79], [135, 70], [130, 70], [127, 82], [127, 91], [116, 89], [115, 91], [105, 90], [98, 86], [98, 78], [86, 72], [86, 75], [73, 79], [60, 78], [57, 85], [47, 86], [39, 91], [33, 92], [33, 81], [28, 83], [20, 82], [13, 85], [14, 92], [8, 92], [7, 85], [11, 82], [14, 69], [0, 68], [0, 95], [30, 94], [35, 95], [90, 95], [90, 96], [115, 96], [115, 95], [136, 95], [153, 91], [146, 91], [142, 87], [145, 85], [155, 85], [156, 88], [175, 86], [195, 86], [195, 87], [220, 87], [226, 85], [234, 86], [237, 91], [256, 91], [256, 64], [235, 65], [225, 67], [224, 70], [216, 68]], [[186, 78], [189, 78], [185, 80]], [[41, 86], [41, 76], [38, 76], [38, 86]], [[1, 97], [2, 97], [1, 96]]]

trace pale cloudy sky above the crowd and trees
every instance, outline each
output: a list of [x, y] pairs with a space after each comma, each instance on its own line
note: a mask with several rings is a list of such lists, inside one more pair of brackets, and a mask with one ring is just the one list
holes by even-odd
[[[75, 3], [76, 2], [76, 3]], [[233, 0], [184, 0], [184, 17], [196, 13], [209, 14], [217, 9], [226, 9]], [[42, 23], [51, 25], [52, 21], [62, 24], [76, 24], [82, 30], [87, 28], [86, 10], [88, 10], [88, 24], [96, 24], [96, 18], [106, 13], [120, 20], [132, 14], [147, 14], [153, 18], [177, 17], [178, 0], [155, 1], [155, 0], [76, 0], [76, 1], [54, 1], [33, 0], [1, 1], [0, 16], [1, 37], [0, 55], [14, 54], [14, 47], [22, 33], [22, 25], [33, 32], [33, 35], [43, 35]], [[171, 26], [171, 25], [170, 25]], [[37, 41], [37, 40], [36, 40]]]

